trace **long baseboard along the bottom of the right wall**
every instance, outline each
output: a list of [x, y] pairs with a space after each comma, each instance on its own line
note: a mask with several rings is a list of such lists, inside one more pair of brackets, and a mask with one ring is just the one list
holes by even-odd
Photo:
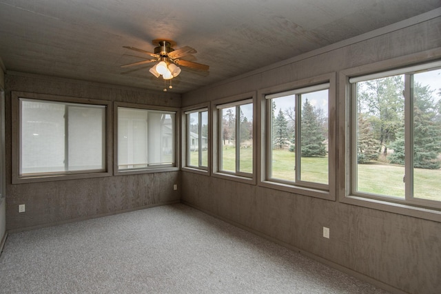
[[308, 258], [311, 258], [312, 260], [316, 260], [317, 262], [320, 262], [322, 264], [326, 264], [327, 266], [336, 269], [338, 271], [341, 271], [343, 273], [347, 273], [348, 275], [351, 275], [353, 277], [356, 277], [358, 280], [362, 280], [364, 282], [368, 282], [369, 284], [373, 284], [374, 286], [377, 286], [378, 288], [382, 288], [385, 291], [388, 291], [393, 294], [406, 294], [406, 292], [395, 288], [394, 286], [391, 286], [389, 284], [386, 284], [384, 282], [381, 282], [379, 280], [374, 279], [373, 277], [369, 277], [368, 275], [365, 275], [363, 273], [359, 273], [358, 271], [353, 271], [352, 269], [347, 268], [346, 266], [342, 266], [340, 264], [337, 264], [336, 262], [332, 262], [331, 260], [327, 260], [325, 258], [322, 258], [318, 255], [315, 255], [314, 253], [310, 253], [308, 251], [302, 250], [297, 248], [296, 246], [293, 246], [291, 244], [288, 244], [286, 242], [280, 241], [276, 238], [273, 238], [269, 235], [266, 235], [264, 233], [261, 233], [259, 231], [256, 231], [255, 229], [249, 228], [244, 226], [243, 224], [239, 224], [238, 222], [234, 222], [232, 220], [228, 220], [227, 218], [223, 218], [222, 216], [218, 216], [215, 213], [212, 213], [211, 211], [207, 211], [205, 209], [202, 209], [201, 207], [198, 207], [197, 205], [194, 205], [192, 203], [189, 203], [185, 200], [181, 200], [181, 203], [188, 205], [189, 207], [192, 207], [194, 209], [197, 209], [198, 211], [202, 211], [203, 213], [207, 213], [209, 216], [213, 216], [214, 218], [218, 218], [219, 220], [223, 220], [224, 222], [227, 222], [229, 224], [234, 225], [235, 227], [238, 227], [240, 229], [243, 229], [245, 231], [248, 231], [249, 233], [254, 233], [254, 235], [258, 235], [262, 238], [265, 238], [266, 240], [269, 240], [271, 242], [274, 242], [276, 244], [279, 244], [280, 246], [283, 246], [287, 249], [290, 249], [292, 251], [296, 251], [302, 255], [307, 256]]

